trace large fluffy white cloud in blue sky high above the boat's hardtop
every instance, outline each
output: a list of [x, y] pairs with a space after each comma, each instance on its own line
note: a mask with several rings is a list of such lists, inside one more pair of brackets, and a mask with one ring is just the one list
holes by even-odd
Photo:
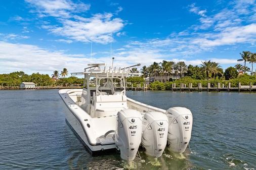
[[76, 16], [76, 20], [60, 19], [61, 27], [43, 26], [53, 34], [65, 36], [81, 42], [109, 43], [113, 41], [113, 33], [124, 26], [120, 18], [112, 19], [112, 14], [96, 14], [92, 18]]

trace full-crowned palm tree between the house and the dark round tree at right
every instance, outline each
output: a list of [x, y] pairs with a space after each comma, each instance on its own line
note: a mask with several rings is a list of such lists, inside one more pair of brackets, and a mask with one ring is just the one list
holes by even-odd
[[210, 74], [216, 75], [218, 73], [221, 73], [221, 70], [222, 70], [219, 63], [210, 62], [210, 60], [202, 62], [201, 68], [202, 68], [202, 72], [206, 74], [207, 80], [209, 80]]

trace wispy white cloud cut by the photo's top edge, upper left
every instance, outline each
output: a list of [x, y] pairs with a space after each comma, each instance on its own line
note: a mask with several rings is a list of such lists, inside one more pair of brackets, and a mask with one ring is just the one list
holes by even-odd
[[90, 5], [84, 3], [73, 3], [69, 0], [25, 0], [31, 6], [35, 7], [35, 11], [39, 17], [61, 17], [70, 18], [71, 13], [86, 12], [90, 9]]

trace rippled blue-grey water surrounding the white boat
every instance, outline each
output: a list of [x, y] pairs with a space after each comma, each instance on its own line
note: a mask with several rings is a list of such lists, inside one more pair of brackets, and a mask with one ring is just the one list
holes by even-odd
[[191, 153], [140, 150], [129, 163], [117, 152], [92, 156], [65, 122], [58, 90], [0, 91], [0, 169], [256, 169], [255, 93], [128, 91], [127, 96], [193, 113]]

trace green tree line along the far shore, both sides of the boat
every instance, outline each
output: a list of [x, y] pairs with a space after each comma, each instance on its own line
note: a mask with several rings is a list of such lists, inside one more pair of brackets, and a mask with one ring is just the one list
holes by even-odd
[[[243, 62], [244, 64], [237, 64], [234, 67], [229, 67], [223, 71], [222, 67], [217, 62], [202, 61], [200, 66], [187, 66], [185, 62], [173, 62], [173, 61], [162, 61], [160, 63], [154, 62], [150, 66], [143, 66], [139, 71], [137, 68], [132, 68], [133, 73], [142, 73], [142, 77], [131, 77], [127, 78], [127, 82], [133, 84], [145, 83], [145, 78], [149, 77], [151, 83], [152, 77], [160, 76], [163, 82], [174, 82], [178, 80], [172, 79], [172, 75], [182, 77], [189, 77], [190, 80], [232, 80], [237, 79], [239, 75], [244, 75], [243, 77], [253, 79], [255, 77], [255, 72], [253, 72], [253, 63], [256, 63], [256, 53], [250, 51], [243, 51], [240, 53], [241, 59], [238, 62]], [[247, 67], [246, 64], [250, 63], [251, 68]], [[247, 74], [250, 73], [250, 76]], [[70, 85], [82, 85], [83, 79], [76, 77], [67, 77], [68, 70], [64, 68], [61, 73], [55, 70], [51, 77], [48, 74], [33, 73], [27, 75], [24, 72], [13, 72], [10, 74], [0, 74], [0, 85], [2, 86], [19, 86], [21, 82], [34, 82], [37, 86], [70, 86]], [[249, 76], [249, 77], [248, 77]], [[242, 80], [245, 81], [245, 80]], [[247, 80], [246, 80], [247, 82]], [[242, 82], [241, 82], [242, 83]]]

